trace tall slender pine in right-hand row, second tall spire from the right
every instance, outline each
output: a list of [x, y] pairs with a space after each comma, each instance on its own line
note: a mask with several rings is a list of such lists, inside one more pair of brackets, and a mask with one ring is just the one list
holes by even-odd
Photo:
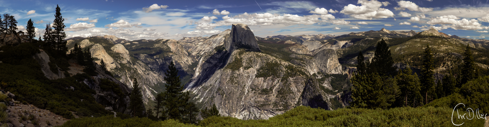
[[[436, 97], [435, 93], [435, 78], [433, 78], [433, 70], [435, 69], [433, 65], [433, 54], [429, 45], [424, 48], [423, 63], [421, 68], [421, 84], [422, 93], [424, 94], [425, 104], [428, 104], [428, 95]], [[429, 94], [428, 94], [429, 93]]]

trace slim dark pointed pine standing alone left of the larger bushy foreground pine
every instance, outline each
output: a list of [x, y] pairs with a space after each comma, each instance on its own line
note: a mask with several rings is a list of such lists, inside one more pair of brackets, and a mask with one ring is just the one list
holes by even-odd
[[133, 90], [131, 92], [130, 100], [129, 109], [133, 110], [133, 116], [144, 117], [143, 95], [141, 94], [141, 88], [139, 87], [136, 78], [133, 80]]

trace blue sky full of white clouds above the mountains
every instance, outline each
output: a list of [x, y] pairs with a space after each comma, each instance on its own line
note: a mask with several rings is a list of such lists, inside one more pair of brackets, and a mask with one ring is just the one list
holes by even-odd
[[233, 23], [262, 38], [381, 28], [489, 37], [489, 0], [0, 0], [0, 14], [15, 16], [24, 32], [31, 19], [39, 36], [54, 21], [57, 5], [67, 38], [179, 40], [219, 34]]

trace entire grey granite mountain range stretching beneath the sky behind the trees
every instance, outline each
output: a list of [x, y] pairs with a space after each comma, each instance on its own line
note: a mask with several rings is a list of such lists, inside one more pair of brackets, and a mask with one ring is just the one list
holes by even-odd
[[[137, 78], [149, 106], [156, 93], [163, 91], [165, 72], [174, 62], [182, 85], [191, 92], [198, 107], [215, 104], [222, 116], [246, 120], [268, 119], [295, 106], [330, 110], [348, 106], [348, 80], [356, 70], [356, 55], [362, 51], [365, 59], [371, 60], [382, 39], [390, 47], [394, 66], [400, 69], [411, 67], [419, 71], [421, 63], [413, 61], [420, 59], [426, 44], [432, 46], [437, 53], [435, 59], [440, 60], [435, 66], [438, 76], [460, 71], [461, 54], [467, 44], [475, 49], [474, 54], [479, 54], [474, 57], [477, 66], [489, 69], [488, 40], [448, 36], [433, 28], [423, 32], [382, 28], [340, 36], [260, 38], [248, 26], [233, 24], [231, 29], [211, 37], [134, 41], [110, 35], [75, 37], [67, 39], [67, 47], [72, 49], [77, 43], [89, 48], [94, 61], [107, 63], [113, 79], [123, 87], [131, 88], [133, 78]], [[84, 72], [69, 71], [70, 75], [77, 73]], [[50, 79], [62, 78], [61, 70], [60, 74], [50, 75], [58, 75]]]

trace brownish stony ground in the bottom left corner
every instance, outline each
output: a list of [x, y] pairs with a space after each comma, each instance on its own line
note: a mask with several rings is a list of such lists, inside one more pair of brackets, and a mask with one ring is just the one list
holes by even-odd
[[7, 123], [10, 124], [9, 127], [53, 127], [61, 126], [68, 121], [60, 115], [33, 105], [14, 105], [8, 106], [6, 110], [9, 115], [10, 123]]

